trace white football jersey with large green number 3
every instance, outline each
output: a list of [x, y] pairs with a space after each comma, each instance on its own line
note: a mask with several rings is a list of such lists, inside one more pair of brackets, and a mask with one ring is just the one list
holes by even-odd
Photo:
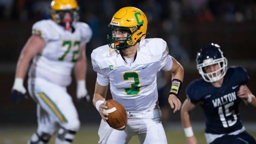
[[155, 105], [158, 100], [156, 73], [172, 67], [166, 42], [160, 38], [142, 39], [137, 56], [130, 65], [118, 50], [108, 45], [98, 47], [91, 54], [97, 82], [108, 85], [113, 100], [121, 103], [127, 111], [140, 111]]

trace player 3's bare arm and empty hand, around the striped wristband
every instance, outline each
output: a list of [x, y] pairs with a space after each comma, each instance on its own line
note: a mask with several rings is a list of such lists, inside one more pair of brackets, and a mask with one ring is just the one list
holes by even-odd
[[[172, 68], [169, 71], [172, 73], [172, 80], [178, 79], [182, 82], [183, 76], [184, 76], [184, 69], [181, 66], [181, 64], [177, 62], [176, 59], [174, 59], [173, 57], [171, 58], [172, 58]], [[181, 89], [181, 87], [179, 89]], [[170, 103], [171, 108], [174, 108], [174, 112], [176, 112], [177, 110], [180, 110], [181, 102], [177, 98], [177, 96], [175, 96], [174, 94], [170, 94], [168, 101]]]

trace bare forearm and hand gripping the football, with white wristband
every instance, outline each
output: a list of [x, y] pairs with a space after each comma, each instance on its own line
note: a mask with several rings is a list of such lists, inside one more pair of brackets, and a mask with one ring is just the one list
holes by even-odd
[[105, 116], [108, 116], [108, 113], [105, 113], [103, 111], [103, 108], [107, 109], [107, 106], [105, 106], [105, 103], [106, 103], [105, 98], [107, 96], [107, 91], [108, 91], [108, 85], [102, 86], [102, 85], [98, 84], [98, 82], [96, 81], [94, 98], [93, 98], [92, 102], [93, 102], [94, 106], [96, 107], [96, 109], [99, 111], [101, 118], [105, 122], [107, 122], [106, 120], [108, 120], [108, 118], [105, 117]]

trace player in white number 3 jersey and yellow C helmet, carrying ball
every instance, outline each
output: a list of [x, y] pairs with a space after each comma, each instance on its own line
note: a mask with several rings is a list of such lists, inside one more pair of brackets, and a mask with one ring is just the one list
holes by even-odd
[[[183, 81], [182, 66], [170, 55], [166, 42], [160, 38], [143, 39], [147, 29], [145, 14], [135, 7], [123, 7], [114, 14], [108, 35], [109, 44], [98, 47], [91, 54], [93, 69], [97, 72], [94, 106], [102, 121], [98, 134], [99, 143], [127, 144], [133, 135], [140, 143], [166, 144], [161, 112], [158, 106], [156, 73], [163, 69], [173, 75], [173, 89], [168, 101], [174, 112], [180, 110], [178, 99]], [[110, 83], [113, 100], [127, 111], [127, 128], [111, 128], [103, 112]]]

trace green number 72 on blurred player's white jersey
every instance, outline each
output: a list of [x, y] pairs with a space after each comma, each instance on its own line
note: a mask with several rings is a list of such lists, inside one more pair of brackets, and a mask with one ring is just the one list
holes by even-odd
[[[65, 59], [66, 55], [69, 53], [70, 48], [72, 46], [72, 42], [71, 41], [63, 41], [62, 47], [66, 46], [66, 45], [68, 45], [68, 49], [64, 52], [64, 54], [61, 57], [58, 58], [58, 60], [60, 60], [60, 61], [63, 61]], [[80, 47], [80, 41], [74, 41], [73, 46], [75, 47], [76, 45], [78, 45], [78, 47]], [[78, 54], [78, 52], [79, 52], [79, 49], [73, 51], [73, 56], [72, 56], [71, 62], [76, 62], [75, 55]]]

